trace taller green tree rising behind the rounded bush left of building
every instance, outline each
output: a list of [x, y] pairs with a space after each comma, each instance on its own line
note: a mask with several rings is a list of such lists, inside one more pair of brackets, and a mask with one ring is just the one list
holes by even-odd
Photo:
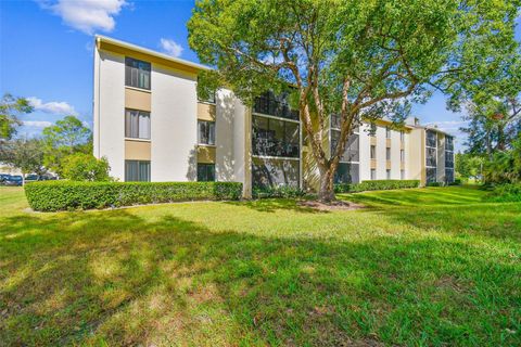
[[45, 163], [52, 171], [62, 175], [62, 160], [74, 153], [92, 153], [92, 133], [75, 116], [66, 116], [43, 129]]

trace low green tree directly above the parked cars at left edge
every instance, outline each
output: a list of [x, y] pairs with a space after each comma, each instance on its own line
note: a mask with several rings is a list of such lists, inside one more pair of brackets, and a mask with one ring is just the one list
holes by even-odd
[[22, 171], [24, 184], [27, 174], [47, 172], [43, 165], [43, 143], [39, 139], [16, 139], [2, 144], [0, 162], [18, 168]]

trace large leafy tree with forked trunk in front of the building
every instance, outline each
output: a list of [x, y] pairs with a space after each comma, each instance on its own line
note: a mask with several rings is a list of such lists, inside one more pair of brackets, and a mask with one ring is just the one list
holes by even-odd
[[[403, 120], [411, 102], [472, 73], [460, 59], [476, 35], [493, 49], [512, 26], [519, 1], [200, 0], [188, 23], [202, 63], [200, 92], [229, 86], [252, 104], [266, 90], [294, 87], [295, 107], [320, 174], [319, 200], [361, 117]], [[491, 29], [492, 28], [492, 29]], [[480, 42], [481, 43], [481, 42]], [[492, 48], [491, 48], [492, 47]], [[340, 141], [325, 141], [331, 114]]]

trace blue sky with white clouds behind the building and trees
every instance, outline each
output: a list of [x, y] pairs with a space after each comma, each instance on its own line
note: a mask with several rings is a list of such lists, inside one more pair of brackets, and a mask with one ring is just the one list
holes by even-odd
[[[188, 47], [186, 23], [194, 1], [0, 1], [0, 93], [31, 98], [35, 113], [24, 115], [22, 134], [75, 114], [92, 126], [93, 34], [198, 62]], [[517, 37], [521, 40], [521, 30]], [[446, 111], [434, 94], [414, 113], [462, 138], [459, 114]]]

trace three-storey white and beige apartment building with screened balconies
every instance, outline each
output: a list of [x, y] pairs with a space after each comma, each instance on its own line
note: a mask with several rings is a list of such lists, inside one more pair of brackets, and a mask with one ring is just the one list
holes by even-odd
[[[199, 100], [207, 67], [97, 36], [93, 147], [120, 181], [236, 181], [252, 188], [315, 190], [317, 172], [303, 141], [298, 112], [266, 92], [246, 107], [219, 89]], [[332, 116], [329, 141], [338, 138]], [[363, 123], [350, 137], [336, 182], [418, 179], [454, 181], [454, 140], [412, 118]]]

